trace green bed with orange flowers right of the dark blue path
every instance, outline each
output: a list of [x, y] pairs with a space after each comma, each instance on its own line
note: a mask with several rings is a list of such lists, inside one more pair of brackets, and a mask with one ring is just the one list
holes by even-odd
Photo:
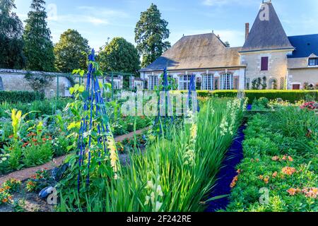
[[317, 211], [317, 129], [314, 112], [300, 107], [254, 116], [227, 210]]

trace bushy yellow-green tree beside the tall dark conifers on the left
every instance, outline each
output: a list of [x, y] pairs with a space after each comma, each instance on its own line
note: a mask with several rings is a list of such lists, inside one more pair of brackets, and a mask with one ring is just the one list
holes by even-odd
[[55, 68], [64, 73], [73, 69], [86, 69], [86, 54], [89, 51], [88, 40], [77, 30], [66, 30], [54, 47]]

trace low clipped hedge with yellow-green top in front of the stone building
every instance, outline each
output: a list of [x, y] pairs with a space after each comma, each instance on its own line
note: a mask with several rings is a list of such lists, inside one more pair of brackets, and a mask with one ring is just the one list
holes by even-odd
[[[215, 90], [215, 91], [197, 91], [199, 97], [236, 97], [237, 90]], [[318, 100], [318, 90], [245, 90], [245, 96], [249, 98], [249, 103], [261, 97], [269, 100], [281, 98], [289, 102], [306, 100], [308, 96]]]

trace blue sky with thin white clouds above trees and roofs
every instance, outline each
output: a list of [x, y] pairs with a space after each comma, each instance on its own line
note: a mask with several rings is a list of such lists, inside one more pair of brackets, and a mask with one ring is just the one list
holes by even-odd
[[[273, 0], [287, 35], [318, 33], [317, 0]], [[16, 0], [16, 13], [27, 17], [31, 0]], [[98, 49], [110, 37], [124, 37], [134, 43], [134, 28], [141, 11], [157, 4], [169, 22], [170, 42], [182, 35], [214, 30], [232, 47], [242, 46], [245, 23], [252, 26], [261, 0], [47, 0], [48, 25], [53, 42], [68, 28], [86, 37], [90, 47]], [[55, 13], [56, 12], [56, 13]]]

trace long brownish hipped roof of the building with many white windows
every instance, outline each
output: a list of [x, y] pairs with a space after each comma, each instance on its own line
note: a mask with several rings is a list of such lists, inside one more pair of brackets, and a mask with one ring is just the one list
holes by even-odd
[[242, 47], [227, 48], [213, 33], [182, 37], [153, 64], [140, 71], [214, 69], [240, 65]]

